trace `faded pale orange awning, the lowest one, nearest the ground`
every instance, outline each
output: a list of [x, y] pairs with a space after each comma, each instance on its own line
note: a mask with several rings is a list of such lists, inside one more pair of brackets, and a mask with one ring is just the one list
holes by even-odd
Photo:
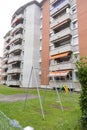
[[70, 70], [50, 72], [49, 77], [67, 76]]

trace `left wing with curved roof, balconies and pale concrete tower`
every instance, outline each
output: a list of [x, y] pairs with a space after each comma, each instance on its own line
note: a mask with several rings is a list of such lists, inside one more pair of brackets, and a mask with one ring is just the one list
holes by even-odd
[[[40, 16], [37, 1], [25, 4], [13, 14], [12, 29], [4, 37], [3, 84], [28, 87], [32, 66], [39, 66]], [[33, 84], [31, 79], [30, 86]]]

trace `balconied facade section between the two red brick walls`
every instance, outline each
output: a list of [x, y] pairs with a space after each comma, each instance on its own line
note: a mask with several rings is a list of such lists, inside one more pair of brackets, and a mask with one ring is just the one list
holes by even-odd
[[79, 59], [76, 0], [50, 1], [50, 86], [77, 86]]

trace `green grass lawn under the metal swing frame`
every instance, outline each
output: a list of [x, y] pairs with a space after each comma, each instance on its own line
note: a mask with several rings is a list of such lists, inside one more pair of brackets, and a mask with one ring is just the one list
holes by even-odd
[[[35, 89], [28, 90], [29, 93], [37, 95]], [[26, 93], [25, 89], [10, 88], [0, 86], [0, 94], [21, 94]], [[35, 130], [79, 130], [78, 120], [80, 118], [79, 94], [59, 92], [64, 112], [60, 109], [60, 104], [55, 90], [47, 90], [45, 101], [44, 90], [40, 90], [43, 101], [45, 119], [42, 119], [39, 100], [27, 100], [24, 109], [24, 101], [0, 102], [0, 110], [9, 118], [16, 119], [25, 126], [32, 126]]]

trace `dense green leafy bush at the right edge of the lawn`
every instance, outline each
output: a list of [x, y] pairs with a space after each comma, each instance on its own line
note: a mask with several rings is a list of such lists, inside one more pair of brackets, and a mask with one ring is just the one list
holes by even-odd
[[81, 84], [81, 130], [87, 130], [87, 57], [83, 57], [77, 61], [76, 67], [78, 69], [78, 77]]

